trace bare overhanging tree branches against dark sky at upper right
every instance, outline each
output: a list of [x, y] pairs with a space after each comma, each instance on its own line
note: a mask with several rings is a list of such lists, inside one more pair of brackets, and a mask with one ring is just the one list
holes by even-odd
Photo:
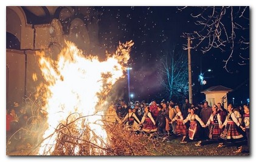
[[[179, 8], [179, 11], [188, 7]], [[217, 6], [198, 7], [193, 10], [192, 18], [200, 27], [193, 33], [183, 33], [184, 37], [190, 36], [195, 40], [192, 48], [201, 48], [202, 53], [207, 53], [213, 48], [218, 48], [223, 54], [224, 67], [227, 72], [233, 73], [227, 67], [230, 60], [235, 57], [238, 65], [249, 64], [249, 7], [247, 6]], [[195, 13], [198, 11], [198, 13]], [[184, 46], [187, 50], [187, 46]], [[227, 53], [227, 55], [226, 55]]]

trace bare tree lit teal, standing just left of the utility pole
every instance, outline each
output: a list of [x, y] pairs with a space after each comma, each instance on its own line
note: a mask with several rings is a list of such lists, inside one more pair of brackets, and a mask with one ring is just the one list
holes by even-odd
[[[168, 48], [167, 48], [168, 49]], [[168, 99], [185, 97], [189, 92], [187, 54], [172, 45], [159, 59], [159, 82], [165, 87]]]

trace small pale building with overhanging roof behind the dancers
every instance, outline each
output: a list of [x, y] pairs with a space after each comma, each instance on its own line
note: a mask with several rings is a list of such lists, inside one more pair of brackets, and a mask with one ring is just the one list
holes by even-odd
[[233, 89], [218, 85], [207, 88], [204, 91], [201, 91], [201, 93], [206, 95], [206, 100], [209, 106], [220, 102], [224, 108], [227, 109], [227, 93], [232, 90]]

